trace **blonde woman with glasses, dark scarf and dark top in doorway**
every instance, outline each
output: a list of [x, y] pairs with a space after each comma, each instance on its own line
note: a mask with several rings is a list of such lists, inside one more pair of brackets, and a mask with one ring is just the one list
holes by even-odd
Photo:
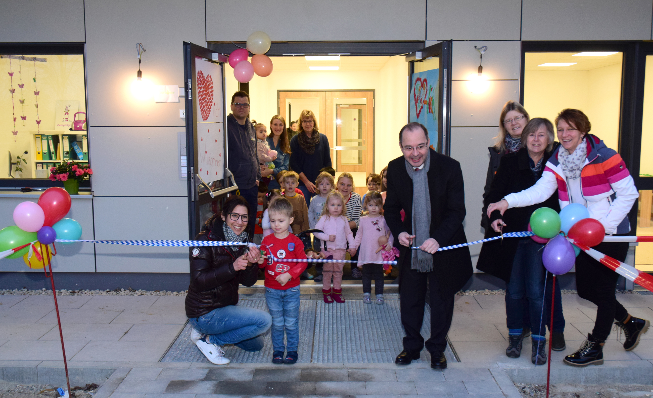
[[290, 167], [299, 174], [299, 189], [304, 192], [306, 206], [315, 196], [315, 178], [323, 167], [331, 166], [331, 152], [326, 135], [319, 132], [312, 110], [304, 109], [299, 116], [297, 135], [290, 141]]

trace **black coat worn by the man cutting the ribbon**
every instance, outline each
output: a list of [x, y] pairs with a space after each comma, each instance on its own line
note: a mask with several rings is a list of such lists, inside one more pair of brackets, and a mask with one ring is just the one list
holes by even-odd
[[[431, 162], [426, 174], [431, 202], [430, 237], [437, 240], [440, 247], [465, 243], [467, 238], [462, 226], [466, 214], [465, 191], [460, 163], [434, 150], [430, 150], [430, 153]], [[385, 221], [394, 235], [395, 242], [398, 242], [402, 232], [413, 235], [413, 180], [408, 176], [403, 156], [390, 161], [387, 180], [383, 210]], [[403, 222], [400, 215], [402, 209], [406, 212]], [[411, 249], [401, 245], [398, 245], [398, 248], [399, 264], [403, 265], [404, 257], [411, 255]], [[467, 246], [436, 252], [433, 255], [433, 265], [443, 299], [459, 291], [473, 273]]]

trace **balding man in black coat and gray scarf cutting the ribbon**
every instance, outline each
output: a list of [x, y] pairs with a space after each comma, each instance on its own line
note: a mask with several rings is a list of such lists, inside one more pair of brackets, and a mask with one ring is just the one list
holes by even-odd
[[[383, 209], [390, 231], [400, 243], [399, 290], [406, 337], [404, 350], [395, 363], [407, 365], [419, 359], [426, 345], [431, 354], [431, 367], [445, 369], [444, 350], [453, 316], [454, 294], [466, 284], [473, 270], [467, 246], [437, 252], [440, 247], [467, 242], [462, 226], [466, 211], [460, 163], [429, 149], [429, 144], [428, 131], [423, 125], [410, 123], [402, 127], [399, 145], [404, 156], [388, 165]], [[402, 209], [406, 212], [403, 222]], [[419, 248], [411, 250], [411, 246]], [[420, 329], [427, 281], [431, 337], [424, 344]]]

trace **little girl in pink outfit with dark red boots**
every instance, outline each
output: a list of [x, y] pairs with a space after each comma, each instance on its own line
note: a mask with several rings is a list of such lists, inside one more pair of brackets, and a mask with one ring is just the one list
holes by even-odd
[[[351, 247], [354, 244], [354, 235], [349, 227], [349, 220], [346, 214], [345, 199], [342, 193], [331, 191], [327, 195], [327, 203], [322, 210], [321, 217], [315, 224], [315, 229], [321, 229], [324, 233], [313, 233], [320, 240], [323, 240], [325, 248], [322, 251], [325, 256], [333, 256], [333, 259], [345, 259], [347, 243]], [[355, 254], [356, 250], [349, 250], [349, 254]], [[325, 263], [323, 269], [322, 294], [325, 303], [344, 303], [342, 297], [342, 269], [344, 263]], [[333, 289], [331, 288], [331, 276], [333, 276]]]

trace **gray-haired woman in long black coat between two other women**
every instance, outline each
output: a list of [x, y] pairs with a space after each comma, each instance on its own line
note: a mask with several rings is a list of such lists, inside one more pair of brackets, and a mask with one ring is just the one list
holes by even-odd
[[[530, 188], [541, 176], [544, 165], [554, 148], [553, 125], [549, 120], [534, 118], [521, 134], [522, 149], [506, 154], [500, 166], [492, 188], [485, 197], [485, 207], [495, 203], [508, 193]], [[514, 208], [503, 214], [492, 212], [485, 237], [495, 237], [500, 231], [526, 231], [531, 214], [540, 207], [550, 207], [558, 211], [558, 195], [552, 195], [547, 201], [530, 207]], [[516, 210], [516, 211], [513, 211]], [[485, 242], [477, 263], [477, 269], [505, 280], [505, 312], [509, 331], [509, 345], [505, 354], [519, 357], [523, 332], [524, 298], [528, 300], [528, 312], [532, 331], [532, 362], [538, 365], [547, 362], [545, 354], [545, 325], [543, 317], [543, 300], [545, 270], [542, 264], [542, 244], [526, 238], [510, 238]], [[548, 317], [544, 317], [548, 318]], [[562, 334], [562, 333], [561, 333]], [[564, 339], [564, 338], [563, 338]]]

